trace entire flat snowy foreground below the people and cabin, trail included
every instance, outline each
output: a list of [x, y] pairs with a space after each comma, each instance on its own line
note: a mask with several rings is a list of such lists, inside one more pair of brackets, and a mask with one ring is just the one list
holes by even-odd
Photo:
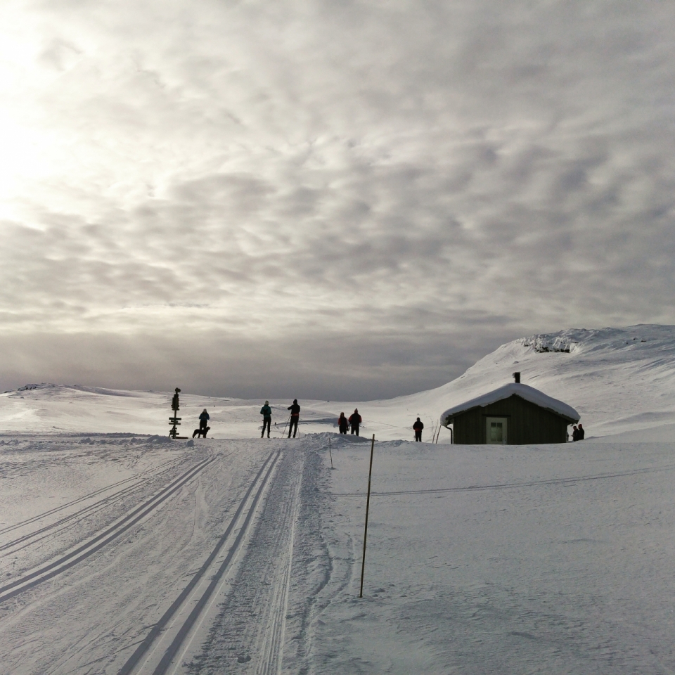
[[[27, 539], [20, 565], [0, 551], [3, 586], [203, 468], [105, 546], [0, 603], [2, 673], [675, 669], [672, 444], [376, 442], [359, 599], [368, 439], [81, 440], [5, 446], [29, 492], [49, 463], [91, 480], [54, 482], [49, 508], [5, 527], [0, 546]], [[153, 466], [162, 480], [143, 482]], [[11, 513], [15, 495], [0, 499]]]

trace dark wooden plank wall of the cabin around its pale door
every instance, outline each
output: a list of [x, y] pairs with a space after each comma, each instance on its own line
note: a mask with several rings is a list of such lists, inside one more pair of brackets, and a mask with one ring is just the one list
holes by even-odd
[[506, 417], [508, 445], [567, 442], [568, 420], [513, 394], [484, 408], [472, 408], [454, 418], [454, 442], [485, 443], [485, 418]]

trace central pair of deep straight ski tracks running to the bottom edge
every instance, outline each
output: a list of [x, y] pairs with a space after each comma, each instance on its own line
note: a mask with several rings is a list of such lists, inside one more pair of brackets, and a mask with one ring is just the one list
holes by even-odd
[[[200, 620], [203, 620], [209, 610], [210, 600], [214, 593], [217, 593], [217, 589], [223, 583], [224, 576], [240, 550], [250, 529], [259, 499], [280, 455], [281, 450], [272, 451], [266, 458], [209, 557], [124, 663], [118, 675], [141, 672], [166, 675], [169, 671], [176, 672], [176, 669], [179, 669], [188, 636], [191, 635], [195, 624], [199, 625]], [[239, 525], [238, 534], [223, 556], [221, 551], [231, 539], [237, 525]]]

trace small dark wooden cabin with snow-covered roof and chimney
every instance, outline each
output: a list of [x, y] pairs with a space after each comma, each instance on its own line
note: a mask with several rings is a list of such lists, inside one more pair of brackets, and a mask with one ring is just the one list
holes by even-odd
[[[515, 375], [516, 373], [514, 373]], [[572, 406], [518, 381], [446, 410], [453, 442], [470, 445], [539, 445], [567, 442], [567, 427], [579, 421]]]

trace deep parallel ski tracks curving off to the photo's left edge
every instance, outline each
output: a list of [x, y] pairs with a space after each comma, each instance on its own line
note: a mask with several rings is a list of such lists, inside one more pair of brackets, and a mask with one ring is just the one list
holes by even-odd
[[[74, 550], [65, 553], [65, 555], [61, 555], [56, 558], [56, 560], [52, 560], [46, 565], [38, 567], [37, 570], [23, 574], [9, 584], [0, 586], [0, 603], [4, 603], [6, 600], [10, 600], [20, 593], [24, 593], [25, 591], [34, 588], [34, 586], [38, 586], [49, 579], [53, 579], [53, 577], [56, 577], [58, 574], [69, 570], [74, 565], [77, 565], [77, 563], [81, 563], [83, 560], [86, 560], [86, 558], [94, 555], [97, 551], [100, 551], [103, 546], [107, 546], [110, 542], [122, 536], [122, 534], [127, 532], [131, 527], [134, 527], [140, 520], [143, 520], [146, 515], [155, 510], [160, 504], [167, 501], [170, 496], [181, 489], [186, 483], [190, 482], [202, 470], [213, 463], [216, 458], [216, 456], [210, 457], [193, 465], [157, 494], [150, 497], [150, 499], [143, 501], [139, 506], [136, 506], [136, 508], [129, 511], [124, 517], [113, 523], [113, 525], [103, 529], [103, 531], [96, 534], [96, 536], [79, 544]], [[51, 513], [53, 513], [53, 511]]]

